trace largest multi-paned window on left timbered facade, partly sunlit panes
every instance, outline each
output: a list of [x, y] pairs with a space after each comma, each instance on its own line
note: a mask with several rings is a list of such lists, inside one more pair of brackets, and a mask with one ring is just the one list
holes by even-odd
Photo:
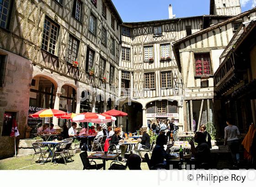
[[56, 43], [59, 34], [59, 26], [50, 21], [48, 18], [44, 20], [42, 48], [52, 54], [55, 54]]

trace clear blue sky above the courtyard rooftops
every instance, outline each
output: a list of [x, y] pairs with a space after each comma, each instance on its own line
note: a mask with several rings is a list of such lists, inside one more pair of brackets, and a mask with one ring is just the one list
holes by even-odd
[[[112, 0], [124, 22], [168, 19], [168, 5], [176, 17], [209, 14], [210, 0]], [[242, 11], [254, 7], [253, 0], [240, 0]], [[256, 4], [256, 0], [255, 0]]]

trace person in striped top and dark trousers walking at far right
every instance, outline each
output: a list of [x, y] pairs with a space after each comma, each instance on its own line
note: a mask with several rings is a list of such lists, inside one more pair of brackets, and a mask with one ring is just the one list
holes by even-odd
[[239, 165], [240, 155], [239, 155], [239, 139], [237, 135], [240, 135], [240, 132], [237, 126], [233, 125], [232, 119], [227, 119], [226, 123], [228, 126], [225, 127], [225, 141], [224, 145], [228, 145], [229, 151], [231, 152], [232, 159], [234, 161], [234, 166]]

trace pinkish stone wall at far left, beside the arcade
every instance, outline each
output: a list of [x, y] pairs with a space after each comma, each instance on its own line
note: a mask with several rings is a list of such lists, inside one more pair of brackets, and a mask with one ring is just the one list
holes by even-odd
[[4, 113], [16, 112], [16, 121], [20, 136], [25, 137], [27, 123], [27, 109], [29, 104], [29, 84], [32, 76], [32, 65], [29, 60], [0, 49], [1, 55], [7, 55], [5, 80], [0, 88], [0, 159], [15, 154], [14, 139], [2, 136]]

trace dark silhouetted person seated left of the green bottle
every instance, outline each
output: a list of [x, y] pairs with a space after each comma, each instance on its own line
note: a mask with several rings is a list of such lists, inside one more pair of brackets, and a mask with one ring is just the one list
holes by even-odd
[[169, 153], [166, 152], [164, 148], [164, 145], [167, 144], [167, 136], [164, 134], [157, 136], [155, 144], [156, 145], [150, 159], [150, 165], [151, 166], [155, 166], [157, 164], [166, 165], [166, 161], [164, 159], [167, 159], [169, 157]]

